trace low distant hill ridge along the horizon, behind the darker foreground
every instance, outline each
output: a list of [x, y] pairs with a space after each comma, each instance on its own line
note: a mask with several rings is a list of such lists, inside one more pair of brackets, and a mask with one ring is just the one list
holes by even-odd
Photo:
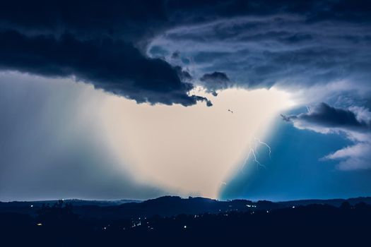
[[[351, 205], [367, 203], [371, 205], [371, 197], [348, 199], [310, 199], [291, 200], [285, 202], [271, 202], [269, 200], [214, 200], [201, 197], [180, 198], [179, 196], [163, 196], [151, 200], [78, 200], [67, 199], [64, 203], [72, 205], [74, 211], [86, 217], [104, 215], [105, 217], [151, 217], [154, 215], [172, 216], [179, 214], [194, 215], [202, 213], [218, 214], [228, 211], [273, 210], [284, 207], [298, 207], [300, 205], [332, 205], [339, 207], [348, 202]], [[41, 200], [33, 202], [8, 202], [0, 203], [0, 210], [5, 212], [25, 212], [35, 215], [42, 205], [53, 205], [58, 200]]]

